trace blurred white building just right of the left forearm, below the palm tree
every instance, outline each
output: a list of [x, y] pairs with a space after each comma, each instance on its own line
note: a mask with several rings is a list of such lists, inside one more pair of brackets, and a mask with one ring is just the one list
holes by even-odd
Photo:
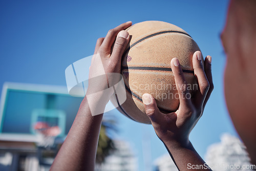
[[134, 171], [138, 170], [138, 159], [126, 141], [114, 141], [116, 150], [106, 157], [104, 163], [96, 165], [97, 171]]

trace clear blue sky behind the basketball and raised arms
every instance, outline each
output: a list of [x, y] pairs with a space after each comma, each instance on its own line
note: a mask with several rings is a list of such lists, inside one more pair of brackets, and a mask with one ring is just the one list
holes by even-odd
[[[0, 89], [3, 83], [23, 82], [66, 86], [65, 69], [94, 52], [96, 40], [109, 29], [131, 20], [162, 20], [190, 34], [204, 56], [212, 56], [215, 90], [190, 140], [203, 157], [221, 134], [236, 135], [223, 93], [225, 54], [220, 33], [228, 1], [1, 1]], [[113, 111], [119, 139], [129, 141], [143, 161], [167, 153], [151, 125], [136, 123]], [[142, 138], [143, 137], [143, 138]]]

